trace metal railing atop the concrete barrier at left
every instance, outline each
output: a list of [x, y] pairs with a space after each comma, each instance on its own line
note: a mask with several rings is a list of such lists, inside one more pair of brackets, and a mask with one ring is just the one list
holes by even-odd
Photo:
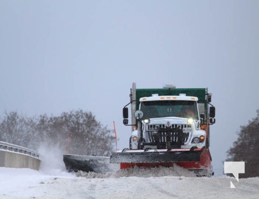
[[7, 142], [0, 141], [0, 150], [6, 150], [6, 151], [12, 151], [12, 152], [16, 152], [16, 153], [21, 153], [23, 155], [32, 156], [32, 157], [37, 158], [37, 159], [40, 158], [39, 153], [37, 153], [36, 151], [33, 151], [29, 148], [22, 147], [22, 146], [19, 146], [19, 145], [10, 144], [10, 143], [7, 143]]

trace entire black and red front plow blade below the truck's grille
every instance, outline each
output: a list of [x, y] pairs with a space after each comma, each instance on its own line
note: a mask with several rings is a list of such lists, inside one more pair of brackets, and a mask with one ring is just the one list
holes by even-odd
[[177, 164], [180, 167], [193, 171], [197, 176], [213, 175], [211, 156], [207, 148], [203, 149], [151, 149], [123, 150], [113, 152], [111, 163], [120, 163], [121, 169], [131, 167], [171, 167]]

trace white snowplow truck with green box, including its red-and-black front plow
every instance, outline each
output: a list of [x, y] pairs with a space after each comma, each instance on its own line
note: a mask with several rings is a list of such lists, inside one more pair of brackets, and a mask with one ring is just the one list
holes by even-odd
[[121, 169], [177, 164], [210, 177], [209, 129], [215, 123], [211, 96], [205, 88], [136, 89], [133, 83], [123, 108], [123, 124], [132, 129], [129, 148], [112, 152], [110, 163], [120, 163]]

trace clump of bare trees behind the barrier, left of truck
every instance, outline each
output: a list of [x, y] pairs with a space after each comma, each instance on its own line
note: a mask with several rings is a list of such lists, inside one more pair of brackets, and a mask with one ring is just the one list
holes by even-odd
[[37, 150], [39, 143], [58, 145], [65, 152], [79, 155], [110, 155], [113, 149], [112, 130], [96, 121], [91, 112], [63, 112], [60, 116], [43, 114], [24, 117], [17, 112], [0, 119], [0, 140]]

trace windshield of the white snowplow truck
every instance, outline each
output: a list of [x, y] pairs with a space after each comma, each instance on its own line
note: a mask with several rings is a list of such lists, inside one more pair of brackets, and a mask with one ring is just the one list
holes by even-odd
[[156, 117], [185, 117], [198, 119], [196, 101], [186, 100], [157, 100], [142, 101], [140, 108], [144, 116], [143, 118]]

